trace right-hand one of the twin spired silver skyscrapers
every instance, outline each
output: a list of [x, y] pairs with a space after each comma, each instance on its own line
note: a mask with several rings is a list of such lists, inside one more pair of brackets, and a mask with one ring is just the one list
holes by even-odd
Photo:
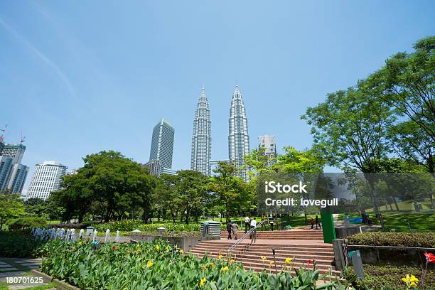
[[230, 107], [228, 151], [230, 161], [233, 161], [239, 168], [237, 175], [248, 181], [247, 170], [244, 168], [245, 155], [249, 153], [247, 117], [242, 94], [240, 94], [237, 85], [234, 94], [232, 94]]

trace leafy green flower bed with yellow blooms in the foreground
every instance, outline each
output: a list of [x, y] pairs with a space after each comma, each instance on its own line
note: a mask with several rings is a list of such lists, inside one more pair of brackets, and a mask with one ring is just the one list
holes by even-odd
[[[296, 269], [296, 276], [245, 271], [224, 259], [198, 259], [163, 240], [100, 245], [48, 242], [41, 267], [45, 274], [80, 289], [316, 289], [317, 271]], [[339, 289], [331, 282], [322, 289]]]

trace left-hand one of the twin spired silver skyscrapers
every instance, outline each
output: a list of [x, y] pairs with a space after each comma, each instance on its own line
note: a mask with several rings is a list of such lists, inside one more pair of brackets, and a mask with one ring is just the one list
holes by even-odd
[[192, 153], [190, 169], [210, 176], [211, 159], [211, 121], [208, 100], [204, 87], [201, 91], [193, 120]]

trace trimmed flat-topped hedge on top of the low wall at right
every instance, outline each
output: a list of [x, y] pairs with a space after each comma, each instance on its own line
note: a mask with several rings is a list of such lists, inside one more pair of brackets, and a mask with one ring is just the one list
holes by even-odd
[[361, 232], [348, 237], [349, 245], [435, 247], [435, 232]]

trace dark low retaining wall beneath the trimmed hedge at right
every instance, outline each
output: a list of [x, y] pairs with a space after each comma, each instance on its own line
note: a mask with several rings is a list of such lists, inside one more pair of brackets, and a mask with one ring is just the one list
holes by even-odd
[[[389, 263], [395, 266], [420, 267], [426, 264], [424, 252], [435, 253], [435, 248], [348, 245], [348, 252], [357, 249], [360, 250], [363, 264]], [[428, 269], [435, 269], [434, 264], [429, 263]]]

